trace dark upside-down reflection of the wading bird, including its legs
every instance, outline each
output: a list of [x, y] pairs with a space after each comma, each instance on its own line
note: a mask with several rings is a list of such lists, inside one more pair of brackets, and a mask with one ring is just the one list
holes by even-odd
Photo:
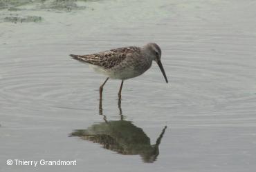
[[124, 120], [121, 109], [121, 100], [118, 100], [120, 120], [107, 120], [103, 114], [102, 100], [100, 99], [99, 114], [103, 116], [104, 122], [88, 127], [77, 129], [71, 136], [77, 136], [83, 140], [89, 140], [102, 144], [104, 149], [109, 149], [123, 155], [140, 155], [143, 162], [154, 162], [159, 155], [159, 145], [165, 133], [163, 128], [156, 144], [150, 143], [150, 138], [143, 129], [136, 127], [131, 121]]

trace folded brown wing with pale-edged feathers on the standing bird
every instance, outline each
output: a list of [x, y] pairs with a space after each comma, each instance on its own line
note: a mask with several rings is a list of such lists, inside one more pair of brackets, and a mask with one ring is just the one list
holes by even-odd
[[120, 47], [113, 50], [108, 50], [104, 52], [99, 52], [96, 54], [89, 55], [74, 55], [70, 54], [75, 60], [81, 61], [84, 63], [90, 63], [92, 65], [98, 65], [100, 67], [104, 67], [110, 69], [111, 67], [115, 67], [119, 65], [122, 61], [127, 58], [129, 54], [134, 52], [139, 52], [139, 47]]

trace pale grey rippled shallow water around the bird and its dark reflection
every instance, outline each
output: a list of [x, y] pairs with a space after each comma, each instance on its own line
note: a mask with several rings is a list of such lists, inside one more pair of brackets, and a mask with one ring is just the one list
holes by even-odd
[[[21, 10], [0, 10], [1, 171], [255, 171], [255, 1], [78, 1], [75, 6], [81, 8], [26, 3], [14, 7]], [[10, 16], [42, 21], [4, 20]], [[104, 76], [68, 54], [148, 42], [160, 45], [170, 83], [156, 64], [125, 80], [120, 111], [120, 81], [109, 80], [99, 109]], [[131, 139], [132, 144], [147, 150], [167, 126], [154, 163], [145, 163], [136, 151], [104, 149], [106, 143], [116, 148], [116, 142], [122, 150], [136, 147], [112, 131], [107, 138], [115, 144], [70, 137], [121, 117], [134, 132], [131, 138], [138, 133], [146, 140], [144, 146]], [[7, 166], [8, 159], [77, 160], [77, 165]]]

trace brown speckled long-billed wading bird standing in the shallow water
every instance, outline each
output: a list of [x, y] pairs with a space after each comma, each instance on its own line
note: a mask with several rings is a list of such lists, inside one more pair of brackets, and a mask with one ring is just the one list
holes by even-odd
[[166, 83], [168, 83], [161, 63], [161, 49], [156, 43], [147, 43], [143, 47], [120, 47], [96, 54], [70, 54], [70, 56], [77, 61], [89, 63], [96, 72], [108, 76], [100, 86], [100, 99], [102, 99], [103, 87], [109, 78], [122, 80], [118, 92], [118, 96], [121, 98], [124, 80], [140, 76], [146, 72], [151, 67], [152, 61], [156, 61], [165, 77]]

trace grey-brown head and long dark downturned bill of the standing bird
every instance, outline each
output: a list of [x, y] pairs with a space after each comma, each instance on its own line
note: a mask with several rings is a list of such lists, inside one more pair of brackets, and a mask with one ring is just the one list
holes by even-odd
[[144, 48], [147, 52], [149, 52], [149, 56], [152, 58], [152, 61], [156, 61], [156, 63], [161, 69], [161, 72], [163, 73], [163, 76], [165, 77], [166, 83], [168, 83], [168, 80], [165, 74], [165, 69], [163, 69], [163, 65], [161, 63], [162, 52], [160, 47], [156, 43], [148, 43], [147, 45], [145, 45]]

